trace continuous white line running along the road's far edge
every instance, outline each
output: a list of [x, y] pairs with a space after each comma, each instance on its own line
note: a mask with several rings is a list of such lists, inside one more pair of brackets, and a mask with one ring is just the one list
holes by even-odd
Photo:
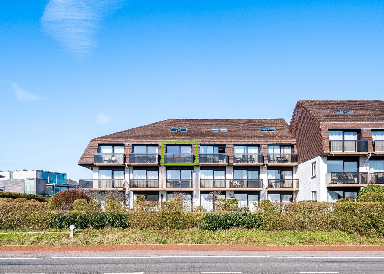
[[14, 260], [35, 260], [35, 259], [153, 259], [153, 258], [298, 258], [298, 259], [384, 259], [384, 256], [345, 256], [345, 257], [332, 257], [332, 256], [207, 256], [207, 255], [190, 255], [190, 256], [72, 256], [72, 257], [0, 257], [0, 260], [14, 259]]

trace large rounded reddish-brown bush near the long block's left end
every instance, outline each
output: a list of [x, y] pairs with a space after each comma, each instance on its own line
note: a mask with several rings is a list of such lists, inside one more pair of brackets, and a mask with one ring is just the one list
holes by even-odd
[[73, 202], [78, 199], [84, 199], [89, 202], [89, 197], [79, 190], [64, 190], [56, 193], [50, 199], [50, 208], [52, 210], [72, 210]]

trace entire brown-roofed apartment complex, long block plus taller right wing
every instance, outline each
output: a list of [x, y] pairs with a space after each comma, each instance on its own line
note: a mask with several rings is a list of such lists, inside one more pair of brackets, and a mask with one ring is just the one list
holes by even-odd
[[[92, 139], [81, 187], [212, 209], [268, 199], [336, 201], [384, 183], [384, 101], [298, 101], [284, 119], [168, 119]], [[300, 182], [300, 184], [299, 184]]]

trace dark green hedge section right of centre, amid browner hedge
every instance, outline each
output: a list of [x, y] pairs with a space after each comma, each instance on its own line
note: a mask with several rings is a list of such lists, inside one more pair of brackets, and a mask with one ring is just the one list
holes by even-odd
[[261, 216], [256, 213], [207, 213], [203, 216], [201, 227], [208, 230], [231, 227], [260, 228], [261, 221]]

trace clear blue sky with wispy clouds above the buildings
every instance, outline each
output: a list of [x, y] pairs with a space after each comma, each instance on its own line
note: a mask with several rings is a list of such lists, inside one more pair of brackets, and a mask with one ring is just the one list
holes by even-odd
[[383, 1], [1, 1], [0, 170], [91, 178], [89, 140], [120, 130], [382, 100], [383, 18]]

